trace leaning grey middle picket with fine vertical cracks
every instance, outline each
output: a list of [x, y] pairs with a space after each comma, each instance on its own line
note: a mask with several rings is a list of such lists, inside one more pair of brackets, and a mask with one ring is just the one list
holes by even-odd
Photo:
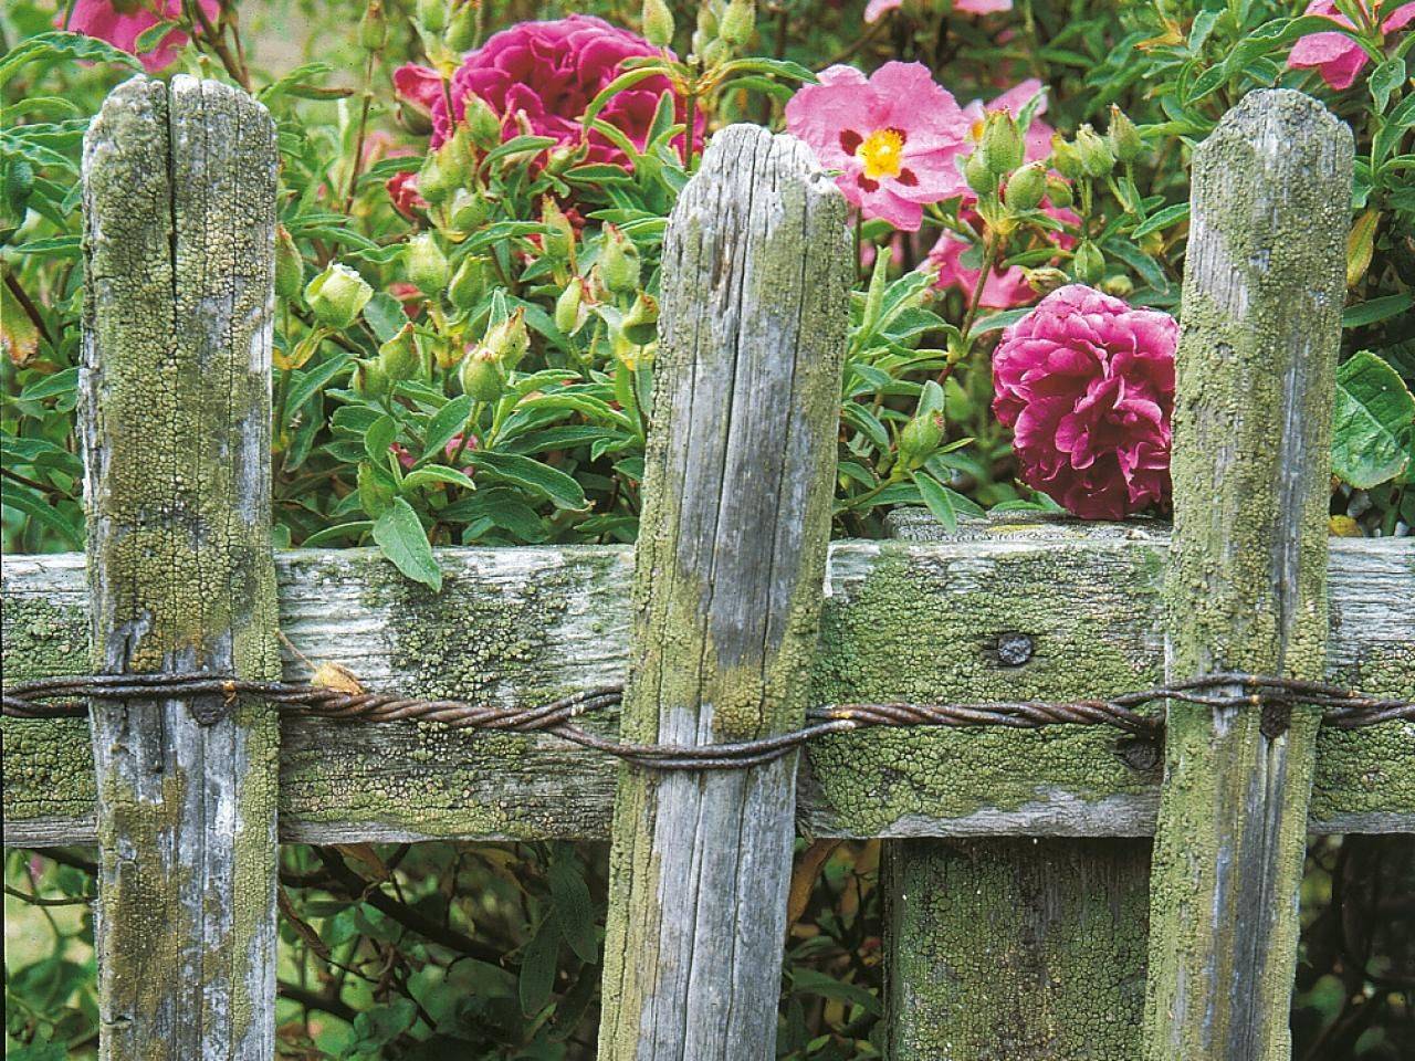
[[[664, 246], [630, 738], [804, 723], [848, 289], [845, 202], [809, 151], [717, 133]], [[774, 1057], [795, 768], [621, 774], [601, 1061]]]

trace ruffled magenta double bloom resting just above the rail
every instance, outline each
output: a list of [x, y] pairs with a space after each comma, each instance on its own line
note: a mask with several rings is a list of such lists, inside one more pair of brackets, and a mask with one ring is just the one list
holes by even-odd
[[1177, 344], [1167, 313], [1082, 284], [1003, 331], [992, 409], [1013, 430], [1019, 478], [1084, 519], [1167, 505]]

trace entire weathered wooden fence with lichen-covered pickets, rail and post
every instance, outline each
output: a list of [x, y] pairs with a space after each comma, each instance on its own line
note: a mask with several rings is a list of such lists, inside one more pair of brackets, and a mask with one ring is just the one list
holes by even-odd
[[[627, 676], [623, 733], [676, 744], [808, 703], [1225, 669], [1415, 695], [1415, 542], [1326, 535], [1351, 139], [1306, 96], [1248, 96], [1196, 153], [1173, 535], [903, 512], [893, 542], [828, 543], [845, 205], [743, 126], [669, 225], [637, 553], [447, 549], [440, 594], [368, 550], [272, 553], [275, 167], [269, 116], [211, 82], [134, 79], [89, 132], [88, 555], [4, 559], [7, 680], [85, 647], [100, 671], [277, 678], [282, 630], [410, 695]], [[549, 736], [93, 703], [4, 720], [4, 839], [98, 843], [106, 1058], [273, 1055], [277, 836], [608, 837], [600, 1055], [770, 1058], [799, 830], [890, 840], [896, 1061], [1275, 1061], [1305, 835], [1415, 832], [1415, 723], [1262, 721], [1174, 705], [1163, 750], [873, 730], [799, 770], [657, 774]]]

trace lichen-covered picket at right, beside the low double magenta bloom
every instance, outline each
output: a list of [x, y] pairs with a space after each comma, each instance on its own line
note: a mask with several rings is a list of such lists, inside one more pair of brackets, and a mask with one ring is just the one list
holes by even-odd
[[[1351, 151], [1350, 129], [1320, 103], [1264, 91], [1194, 154], [1170, 679], [1323, 676]], [[1286, 1060], [1319, 710], [1170, 702], [1167, 717], [1148, 1057]]]

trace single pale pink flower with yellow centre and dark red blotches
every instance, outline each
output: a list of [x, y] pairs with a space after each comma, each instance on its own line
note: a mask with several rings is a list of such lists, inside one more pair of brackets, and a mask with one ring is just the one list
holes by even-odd
[[968, 119], [921, 62], [886, 62], [866, 78], [831, 66], [787, 103], [787, 129], [804, 140], [866, 218], [916, 232], [924, 204], [968, 190], [957, 157]]

